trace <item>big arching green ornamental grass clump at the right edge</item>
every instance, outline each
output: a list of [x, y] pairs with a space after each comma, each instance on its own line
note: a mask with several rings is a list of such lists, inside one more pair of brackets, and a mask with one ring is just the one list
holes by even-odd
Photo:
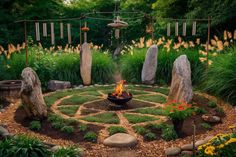
[[236, 53], [224, 54], [213, 60], [204, 75], [204, 89], [231, 104], [236, 102]]

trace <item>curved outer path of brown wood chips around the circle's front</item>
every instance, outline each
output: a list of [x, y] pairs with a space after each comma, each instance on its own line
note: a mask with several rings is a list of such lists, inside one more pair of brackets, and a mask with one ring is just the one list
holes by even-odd
[[[33, 132], [28, 128], [22, 126], [21, 124], [17, 123], [14, 119], [14, 113], [18, 108], [19, 103], [10, 105], [6, 108], [4, 113], [0, 113], [0, 123], [7, 124], [8, 130], [12, 134], [27, 134], [32, 137], [37, 137], [44, 142], [58, 144], [58, 145], [71, 145], [71, 144], [78, 144], [74, 143], [69, 140], [62, 140], [62, 139], [54, 139], [50, 136], [43, 135], [40, 133]], [[207, 131], [203, 134], [196, 135], [196, 139], [202, 139], [209, 135], [216, 135], [218, 133], [227, 133], [230, 132], [228, 127], [230, 125], [234, 125], [236, 123], [236, 110], [223, 102], [220, 102], [221, 107], [224, 109], [225, 118], [222, 120], [222, 123], [215, 125], [213, 130]], [[185, 126], [190, 127], [190, 126]], [[166, 142], [164, 140], [152, 141], [152, 142], [143, 142], [139, 140], [138, 145], [135, 148], [109, 148], [104, 146], [102, 143], [87, 143], [82, 142], [79, 143], [80, 147], [85, 149], [86, 156], [88, 157], [112, 157], [120, 152], [124, 152], [123, 154], [128, 154], [129, 157], [162, 157], [164, 155], [164, 150], [168, 147], [172, 146], [180, 146], [183, 144], [188, 144], [192, 141], [192, 137], [184, 137], [181, 139], [177, 139], [175, 141]], [[121, 155], [127, 156], [127, 155]]]

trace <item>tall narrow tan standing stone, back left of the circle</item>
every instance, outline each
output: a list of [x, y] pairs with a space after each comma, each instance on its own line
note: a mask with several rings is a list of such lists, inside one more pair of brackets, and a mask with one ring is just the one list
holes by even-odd
[[91, 84], [91, 69], [92, 69], [92, 54], [89, 49], [89, 44], [82, 45], [80, 53], [80, 75], [84, 85]]

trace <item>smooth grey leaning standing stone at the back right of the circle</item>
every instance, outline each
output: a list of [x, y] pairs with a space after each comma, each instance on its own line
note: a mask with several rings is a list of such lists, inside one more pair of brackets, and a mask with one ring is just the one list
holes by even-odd
[[157, 70], [157, 45], [152, 45], [146, 54], [146, 58], [142, 69], [142, 82], [144, 84], [154, 84]]

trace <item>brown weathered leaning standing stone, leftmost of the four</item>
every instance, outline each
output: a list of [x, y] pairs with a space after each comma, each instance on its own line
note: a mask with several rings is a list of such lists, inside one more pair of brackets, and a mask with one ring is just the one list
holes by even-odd
[[27, 116], [36, 119], [47, 117], [47, 106], [43, 99], [38, 75], [28, 67], [22, 71], [21, 77], [21, 99]]

